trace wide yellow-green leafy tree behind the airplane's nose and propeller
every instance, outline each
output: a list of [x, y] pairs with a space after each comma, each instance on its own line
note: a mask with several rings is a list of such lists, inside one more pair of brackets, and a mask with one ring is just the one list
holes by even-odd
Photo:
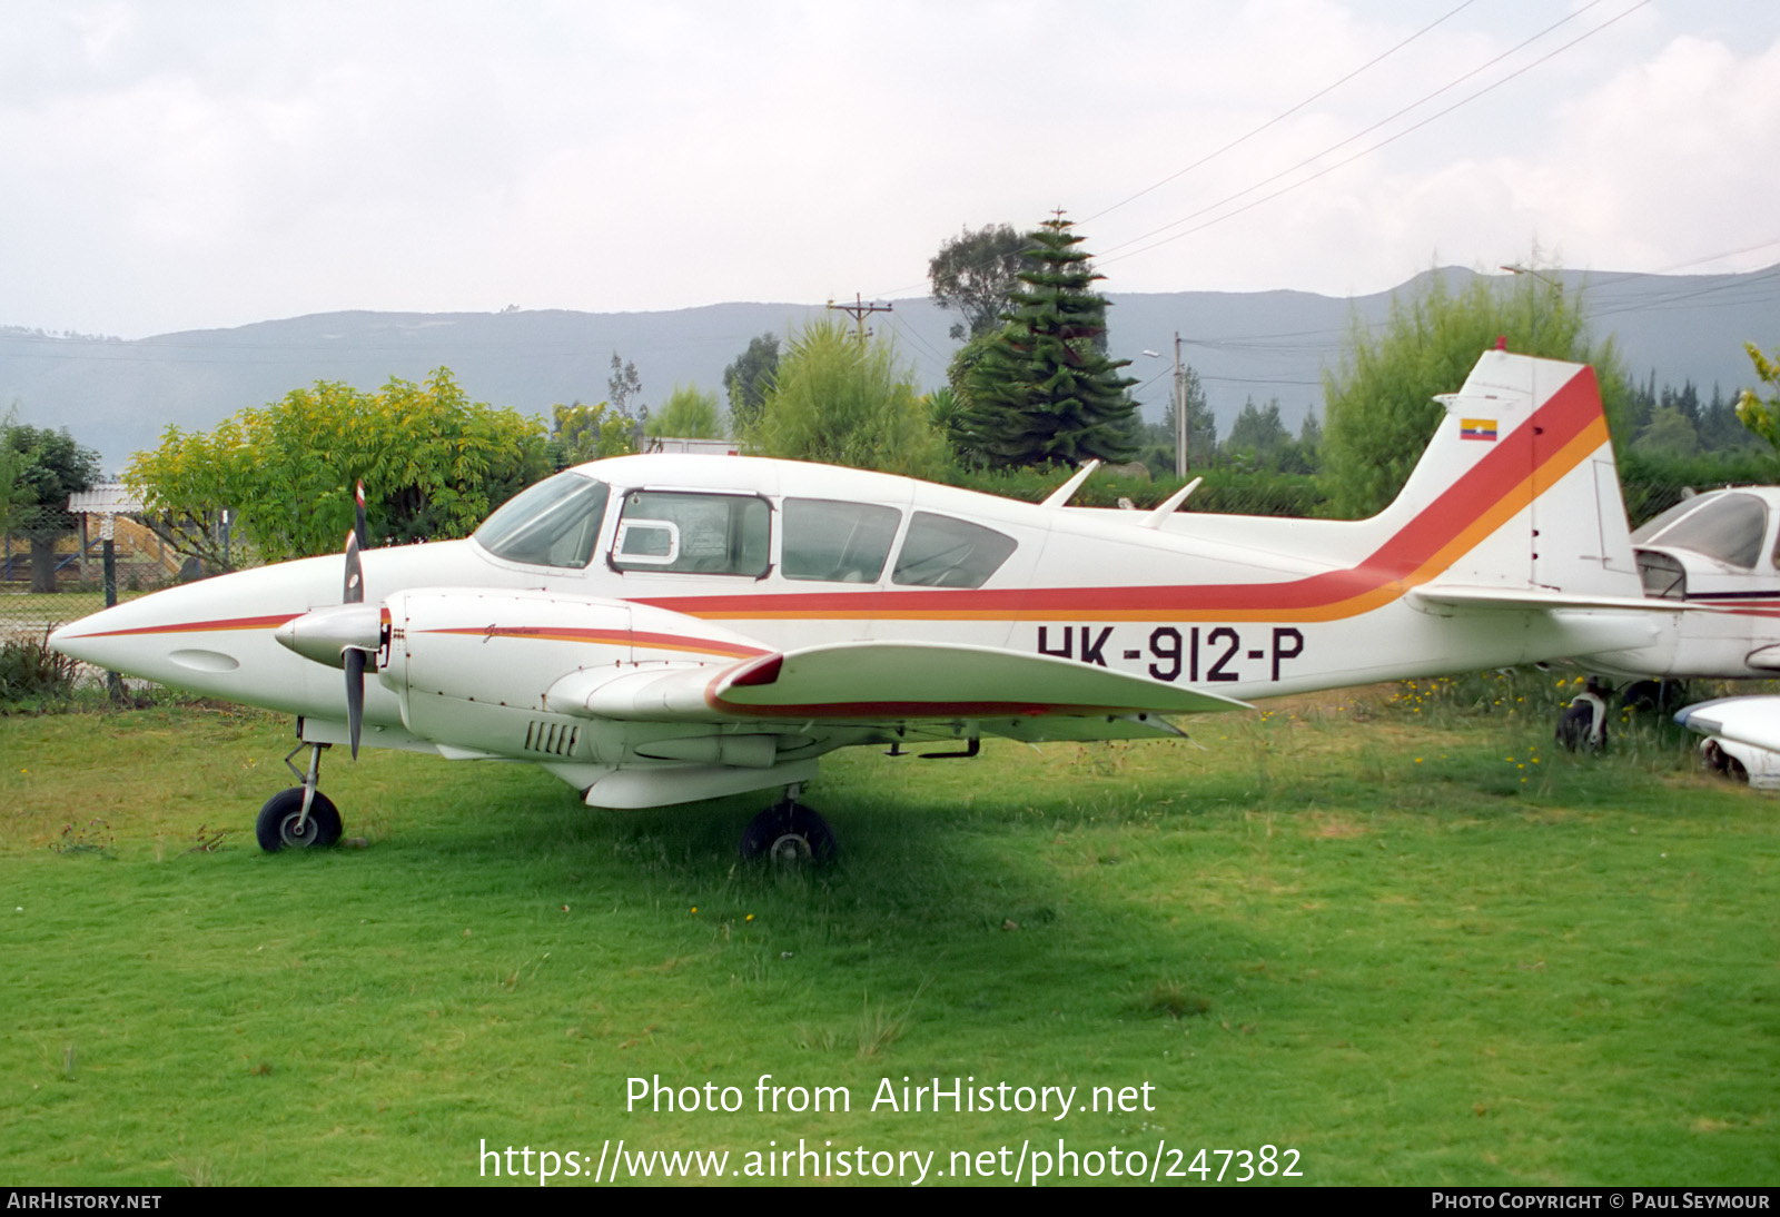
[[543, 423], [470, 402], [447, 368], [424, 384], [392, 379], [377, 393], [317, 381], [214, 432], [167, 427], [125, 479], [157, 532], [221, 564], [215, 512], [267, 560], [338, 552], [365, 482], [374, 537], [459, 537], [491, 507], [550, 471]]

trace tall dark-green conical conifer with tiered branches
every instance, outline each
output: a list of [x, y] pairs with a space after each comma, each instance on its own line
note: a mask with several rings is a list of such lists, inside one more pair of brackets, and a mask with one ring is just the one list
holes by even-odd
[[963, 431], [991, 464], [1134, 455], [1137, 402], [1127, 390], [1137, 381], [1118, 374], [1130, 359], [1109, 359], [1098, 347], [1107, 301], [1089, 285], [1104, 276], [1077, 249], [1082, 238], [1072, 228], [1059, 212], [1029, 237], [1024, 290], [1011, 294], [1013, 311], [1002, 313], [1006, 324], [965, 377]]

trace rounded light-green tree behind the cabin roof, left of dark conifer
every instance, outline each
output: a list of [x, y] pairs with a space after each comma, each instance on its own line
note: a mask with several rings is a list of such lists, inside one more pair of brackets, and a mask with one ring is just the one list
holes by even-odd
[[910, 477], [934, 477], [947, 466], [913, 368], [888, 340], [862, 343], [829, 317], [790, 340], [760, 418], [742, 439], [762, 455]]

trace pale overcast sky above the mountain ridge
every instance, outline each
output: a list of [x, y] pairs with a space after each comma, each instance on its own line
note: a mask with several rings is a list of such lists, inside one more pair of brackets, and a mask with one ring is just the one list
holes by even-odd
[[1059, 206], [1112, 292], [1365, 294], [1534, 246], [1780, 262], [1775, 0], [0, 0], [0, 21], [12, 326], [922, 295], [947, 237]]

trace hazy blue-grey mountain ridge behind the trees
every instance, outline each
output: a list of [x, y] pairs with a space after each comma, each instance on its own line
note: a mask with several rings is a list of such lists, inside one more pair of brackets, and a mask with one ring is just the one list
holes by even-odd
[[[1451, 286], [1474, 272], [1433, 270]], [[1401, 294], [1426, 286], [1417, 276]], [[1705, 397], [1746, 384], [1744, 342], [1780, 340], [1780, 265], [1748, 274], [1650, 276], [1563, 272], [1584, 290], [1597, 333], [1613, 334], [1627, 370], [1659, 384], [1693, 381]], [[1323, 402], [1323, 370], [1340, 361], [1355, 324], [1378, 324], [1392, 292], [1337, 299], [1308, 292], [1112, 294], [1112, 354], [1130, 359], [1146, 415], [1169, 391], [1173, 336], [1205, 383], [1226, 432], [1242, 402], [1280, 399], [1287, 425]], [[123, 342], [0, 329], [0, 404], [21, 422], [68, 427], [109, 470], [153, 447], [169, 425], [206, 431], [242, 406], [262, 406], [313, 381], [377, 388], [449, 367], [473, 400], [548, 413], [555, 402], [598, 402], [612, 354], [634, 361], [643, 400], [675, 384], [721, 390], [723, 368], [762, 333], [781, 338], [821, 304], [710, 304], [668, 313], [320, 313]], [[897, 301], [869, 318], [892, 333], [924, 386], [945, 381], [956, 313]], [[1143, 354], [1157, 352], [1155, 358]], [[1452, 386], [1458, 388], [1458, 386]]]

